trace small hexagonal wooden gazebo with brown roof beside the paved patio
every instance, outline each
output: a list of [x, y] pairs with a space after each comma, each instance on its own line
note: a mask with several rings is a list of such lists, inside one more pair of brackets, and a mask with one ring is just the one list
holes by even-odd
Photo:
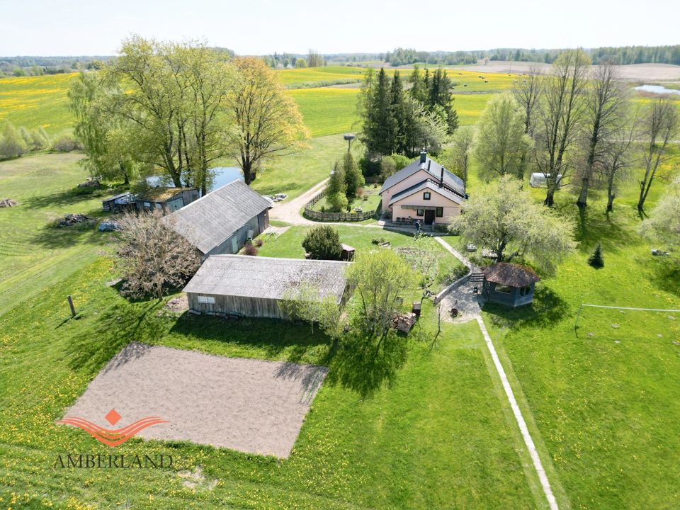
[[519, 264], [499, 262], [482, 270], [482, 295], [490, 302], [518, 307], [533, 301], [533, 288], [540, 281], [531, 269]]

